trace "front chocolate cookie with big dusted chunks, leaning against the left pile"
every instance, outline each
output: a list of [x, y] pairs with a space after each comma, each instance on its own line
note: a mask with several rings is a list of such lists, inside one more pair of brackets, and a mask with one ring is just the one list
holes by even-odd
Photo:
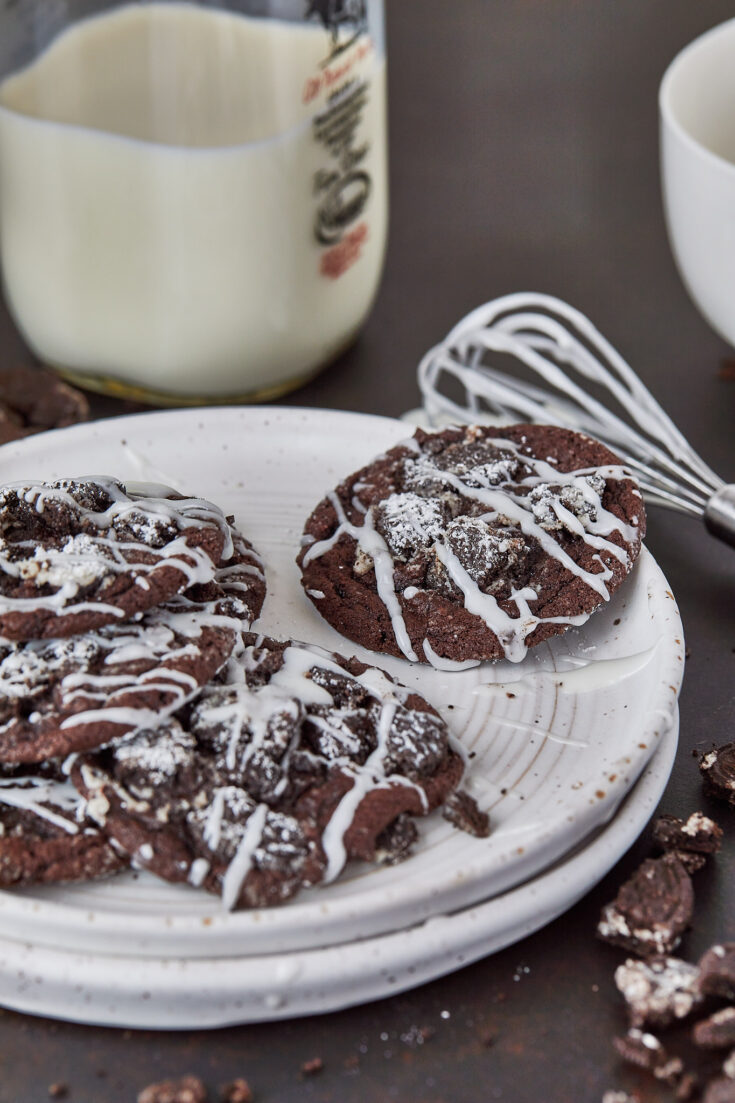
[[116, 846], [227, 908], [279, 903], [373, 859], [386, 828], [461, 777], [430, 705], [356, 660], [251, 634], [227, 677], [73, 768]]

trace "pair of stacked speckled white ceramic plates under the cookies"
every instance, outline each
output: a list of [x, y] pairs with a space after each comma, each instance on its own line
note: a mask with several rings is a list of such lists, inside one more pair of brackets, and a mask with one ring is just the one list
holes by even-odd
[[324, 1011], [408, 988], [542, 927], [635, 840], [677, 747], [683, 638], [643, 552], [586, 625], [520, 665], [439, 672], [342, 640], [302, 596], [303, 521], [400, 421], [287, 408], [150, 414], [2, 449], [2, 480], [114, 474], [210, 497], [267, 565], [258, 628], [384, 666], [443, 714], [489, 811], [487, 839], [438, 814], [401, 866], [354, 866], [283, 908], [225, 913], [148, 875], [0, 892], [0, 1002], [119, 1026], [207, 1027]]

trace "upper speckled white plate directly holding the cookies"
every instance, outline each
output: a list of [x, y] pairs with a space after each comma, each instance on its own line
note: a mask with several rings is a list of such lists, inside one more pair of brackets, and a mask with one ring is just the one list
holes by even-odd
[[648, 553], [609, 606], [520, 666], [445, 674], [374, 656], [343, 641], [302, 596], [294, 558], [306, 516], [405, 432], [398, 421], [326, 410], [149, 414], [7, 446], [1, 478], [150, 479], [234, 513], [267, 563], [260, 629], [356, 652], [432, 700], [472, 756], [468, 785], [491, 814], [490, 838], [470, 838], [435, 815], [411, 861], [355, 866], [335, 885], [257, 912], [227, 914], [205, 893], [131, 874], [0, 892], [0, 936], [153, 957], [331, 946], [504, 892], [609, 820], [669, 726], [682, 676], [679, 613]]

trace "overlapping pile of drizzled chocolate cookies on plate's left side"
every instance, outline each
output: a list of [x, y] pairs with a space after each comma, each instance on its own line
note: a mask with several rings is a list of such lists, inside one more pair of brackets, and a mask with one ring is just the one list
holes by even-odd
[[132, 863], [262, 907], [408, 853], [462, 773], [444, 721], [377, 670], [251, 633], [264, 597], [211, 503], [0, 490], [0, 884]]

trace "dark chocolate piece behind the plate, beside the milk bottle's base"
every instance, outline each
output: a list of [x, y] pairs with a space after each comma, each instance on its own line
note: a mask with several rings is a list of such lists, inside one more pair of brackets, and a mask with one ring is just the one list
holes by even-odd
[[0, 368], [0, 445], [88, 417], [82, 392], [53, 372], [25, 364]]

